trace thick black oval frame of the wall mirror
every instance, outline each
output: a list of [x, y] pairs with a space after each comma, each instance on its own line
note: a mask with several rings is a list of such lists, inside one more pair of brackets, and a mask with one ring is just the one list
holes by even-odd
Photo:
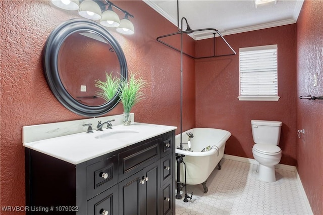
[[[58, 54], [65, 39], [77, 31], [92, 31], [109, 41], [119, 59], [121, 76], [127, 80], [128, 69], [126, 57], [118, 41], [94, 21], [71, 19], [57, 26], [47, 38], [43, 52], [43, 69], [49, 88], [56, 98], [70, 111], [85, 117], [98, 117], [111, 111], [119, 102], [118, 93], [115, 97], [99, 106], [89, 106], [75, 100], [65, 89], [58, 71]], [[120, 89], [119, 89], [120, 90]]]

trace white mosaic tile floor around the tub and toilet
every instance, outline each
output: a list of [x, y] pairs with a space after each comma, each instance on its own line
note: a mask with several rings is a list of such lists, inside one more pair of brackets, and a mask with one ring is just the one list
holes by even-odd
[[255, 164], [222, 159], [221, 165], [209, 176], [207, 193], [201, 184], [187, 186], [193, 198], [185, 203], [183, 193], [176, 199], [176, 215], [311, 214], [295, 172], [276, 169], [277, 181], [267, 183], [256, 178]]

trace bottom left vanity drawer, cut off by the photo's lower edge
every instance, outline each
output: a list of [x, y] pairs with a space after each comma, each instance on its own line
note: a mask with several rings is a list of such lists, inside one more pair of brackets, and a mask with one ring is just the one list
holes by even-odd
[[104, 191], [87, 201], [87, 214], [119, 214], [118, 213], [118, 185]]

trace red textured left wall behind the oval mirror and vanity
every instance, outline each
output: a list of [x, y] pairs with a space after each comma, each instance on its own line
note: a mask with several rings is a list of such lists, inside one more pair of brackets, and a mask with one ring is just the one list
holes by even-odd
[[[128, 69], [150, 82], [146, 99], [132, 110], [136, 121], [179, 127], [180, 54], [156, 41], [157, 36], [176, 32], [177, 27], [144, 2], [113, 2], [135, 17], [134, 35], [112, 31], [125, 52]], [[1, 206], [24, 206], [22, 127], [84, 118], [67, 110], [53, 96], [42, 69], [42, 51], [50, 32], [63, 21], [79, 16], [52, 7], [49, 1], [0, 1], [0, 6]], [[187, 130], [195, 125], [195, 63], [185, 59], [185, 64], [189, 66], [184, 75], [184, 102], [188, 107], [184, 107], [183, 127]], [[118, 104], [107, 115], [122, 113]]]

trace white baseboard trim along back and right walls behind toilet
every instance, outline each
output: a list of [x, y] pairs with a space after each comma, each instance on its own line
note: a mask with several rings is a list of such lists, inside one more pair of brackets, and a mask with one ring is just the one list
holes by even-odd
[[[256, 164], [256, 165], [259, 164], [257, 162], [257, 160], [255, 160], [255, 159], [247, 158], [247, 157], [239, 157], [239, 156], [230, 155], [230, 154], [224, 154], [223, 158], [224, 159], [229, 159], [229, 160], [235, 160], [235, 161], [238, 161], [238, 162], [248, 163], [248, 164]], [[296, 167], [295, 166], [290, 166], [290, 165], [285, 165], [285, 164], [278, 164], [278, 165], [275, 166], [275, 169], [281, 169], [281, 170], [287, 170], [287, 171], [295, 172], [297, 182], [298, 182], [298, 186], [299, 186], [299, 188], [301, 190], [301, 193], [302, 193], [302, 196], [304, 198], [306, 207], [307, 207], [308, 211], [310, 212], [309, 214], [313, 214], [312, 208], [311, 208], [311, 206], [309, 204], [306, 192], [304, 190], [302, 181], [301, 181], [301, 179], [300, 179], [300, 177], [298, 175]]]

